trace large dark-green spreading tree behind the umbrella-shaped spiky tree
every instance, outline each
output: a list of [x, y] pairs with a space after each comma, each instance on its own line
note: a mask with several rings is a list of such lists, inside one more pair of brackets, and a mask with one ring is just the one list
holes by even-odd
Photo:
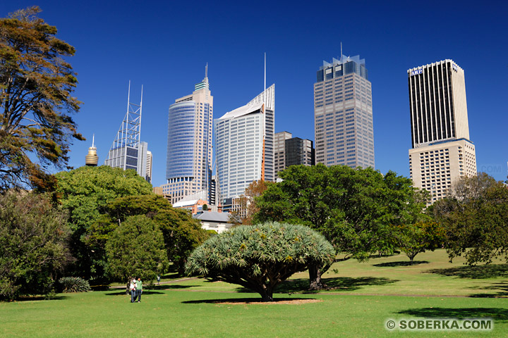
[[[424, 192], [392, 171], [373, 168], [291, 165], [279, 172], [256, 199], [254, 223], [267, 220], [298, 223], [318, 230], [347, 258], [368, 259], [375, 251], [394, 249], [394, 226], [416, 223], [425, 206]], [[329, 265], [311, 265], [310, 289], [323, 287]]]

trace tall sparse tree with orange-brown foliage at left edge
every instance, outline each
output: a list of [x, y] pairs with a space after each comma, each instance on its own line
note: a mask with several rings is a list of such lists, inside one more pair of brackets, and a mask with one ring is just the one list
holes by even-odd
[[75, 49], [38, 13], [32, 6], [0, 19], [0, 189], [53, 189], [49, 167], [64, 168], [71, 140], [84, 140], [69, 115], [80, 108], [66, 61]]

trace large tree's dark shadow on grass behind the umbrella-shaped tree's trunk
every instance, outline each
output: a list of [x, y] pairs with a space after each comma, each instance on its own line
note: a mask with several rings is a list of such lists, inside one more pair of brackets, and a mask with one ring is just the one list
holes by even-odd
[[[367, 285], [384, 285], [399, 282], [399, 280], [390, 280], [389, 278], [377, 278], [377, 277], [334, 277], [334, 278], [322, 278], [322, 282], [326, 284], [326, 290], [344, 290], [353, 291], [361, 289]], [[307, 278], [298, 278], [296, 280], [286, 280], [275, 287], [274, 292], [278, 294], [316, 294], [315, 291], [309, 291], [309, 280]], [[249, 293], [252, 292], [245, 287], [238, 287], [236, 292]]]

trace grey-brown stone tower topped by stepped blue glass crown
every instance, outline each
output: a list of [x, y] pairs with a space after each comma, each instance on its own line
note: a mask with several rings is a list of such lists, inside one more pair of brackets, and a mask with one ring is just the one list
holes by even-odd
[[372, 89], [365, 60], [323, 61], [314, 84], [315, 163], [374, 168]]

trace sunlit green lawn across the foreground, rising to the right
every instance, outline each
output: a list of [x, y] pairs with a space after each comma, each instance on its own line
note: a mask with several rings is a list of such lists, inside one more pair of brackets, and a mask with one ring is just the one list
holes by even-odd
[[[121, 290], [0, 303], [0, 337], [508, 337], [508, 265], [469, 268], [441, 250], [416, 259], [335, 263], [338, 273], [325, 275], [330, 289], [309, 294], [301, 273], [274, 295], [315, 303], [240, 302], [259, 296], [205, 280], [145, 290], [141, 303]], [[389, 318], [492, 318], [494, 328], [390, 332]]]

